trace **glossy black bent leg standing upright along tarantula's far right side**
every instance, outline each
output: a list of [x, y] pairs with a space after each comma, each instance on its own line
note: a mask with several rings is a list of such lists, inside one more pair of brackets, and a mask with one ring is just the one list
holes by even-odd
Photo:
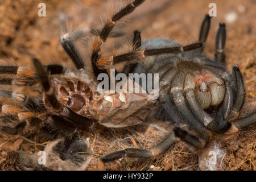
[[238, 114], [240, 113], [243, 102], [245, 100], [245, 86], [243, 84], [243, 77], [240, 69], [236, 65], [233, 65], [232, 67], [232, 76], [234, 80], [234, 87], [237, 91], [237, 96], [229, 115], [226, 117], [227, 119], [238, 117]]

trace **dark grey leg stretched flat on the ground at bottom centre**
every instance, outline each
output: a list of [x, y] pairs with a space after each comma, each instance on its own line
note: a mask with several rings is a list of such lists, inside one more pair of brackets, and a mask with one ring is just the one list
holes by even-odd
[[158, 145], [153, 147], [151, 150], [144, 150], [141, 148], [126, 148], [112, 152], [108, 155], [101, 157], [102, 162], [110, 162], [119, 158], [152, 158], [167, 150], [176, 141], [174, 131], [171, 131], [166, 138], [162, 140]]

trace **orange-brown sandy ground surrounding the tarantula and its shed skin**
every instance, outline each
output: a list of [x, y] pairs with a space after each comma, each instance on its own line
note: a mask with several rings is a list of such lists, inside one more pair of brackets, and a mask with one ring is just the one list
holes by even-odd
[[[38, 3], [46, 3], [46, 17], [38, 16]], [[29, 64], [31, 55], [47, 63], [63, 63], [74, 68], [71, 60], [61, 48], [61, 27], [90, 27], [97, 25], [100, 17], [113, 9], [117, 1], [75, 0], [35, 1], [0, 0], [0, 58], [13, 59], [19, 64]], [[128, 1], [119, 1], [127, 3]], [[256, 1], [168, 1], [147, 0], [125, 20], [123, 30], [131, 38], [133, 30], [142, 31], [142, 39], [167, 38], [186, 45], [197, 41], [200, 24], [209, 11], [209, 3], [217, 5], [217, 16], [212, 24], [204, 53], [213, 57], [214, 39], [219, 22], [226, 22], [226, 65], [232, 71], [237, 64], [246, 86], [246, 104], [242, 113], [255, 108], [256, 100]], [[230, 14], [236, 15], [229, 22]], [[228, 22], [227, 22], [228, 21]], [[122, 40], [121, 40], [122, 41]], [[157, 127], [162, 129], [158, 129]], [[150, 148], [171, 129], [168, 123], [108, 129], [97, 125], [89, 138], [93, 148], [93, 159], [88, 170], [199, 170], [199, 157], [181, 142], [155, 159], [122, 159], [102, 163], [100, 156], [126, 147]], [[22, 150], [37, 153], [48, 143], [38, 143], [33, 138], [0, 134], [0, 150]], [[238, 134], [218, 135], [209, 144], [217, 143], [225, 152], [224, 170], [255, 170], [256, 140], [255, 126]], [[150, 168], [150, 166], [154, 167]], [[201, 167], [201, 169], [204, 169]]]

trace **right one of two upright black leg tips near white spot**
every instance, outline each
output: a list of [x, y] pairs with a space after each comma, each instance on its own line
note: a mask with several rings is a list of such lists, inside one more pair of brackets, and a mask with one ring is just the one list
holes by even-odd
[[218, 28], [218, 32], [216, 35], [216, 42], [215, 42], [216, 52], [214, 53], [214, 60], [217, 61], [218, 63], [225, 64], [225, 57], [226, 57], [224, 52], [225, 42], [226, 42], [225, 23], [220, 23], [220, 28]]

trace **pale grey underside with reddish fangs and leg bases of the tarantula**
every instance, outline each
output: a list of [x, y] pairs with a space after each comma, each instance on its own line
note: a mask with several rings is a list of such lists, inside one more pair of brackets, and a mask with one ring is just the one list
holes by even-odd
[[170, 85], [169, 93], [175, 105], [191, 99], [201, 109], [221, 104], [225, 96], [224, 80], [197, 62], [197, 57], [167, 57], [155, 60], [151, 71], [159, 73], [160, 87]]

